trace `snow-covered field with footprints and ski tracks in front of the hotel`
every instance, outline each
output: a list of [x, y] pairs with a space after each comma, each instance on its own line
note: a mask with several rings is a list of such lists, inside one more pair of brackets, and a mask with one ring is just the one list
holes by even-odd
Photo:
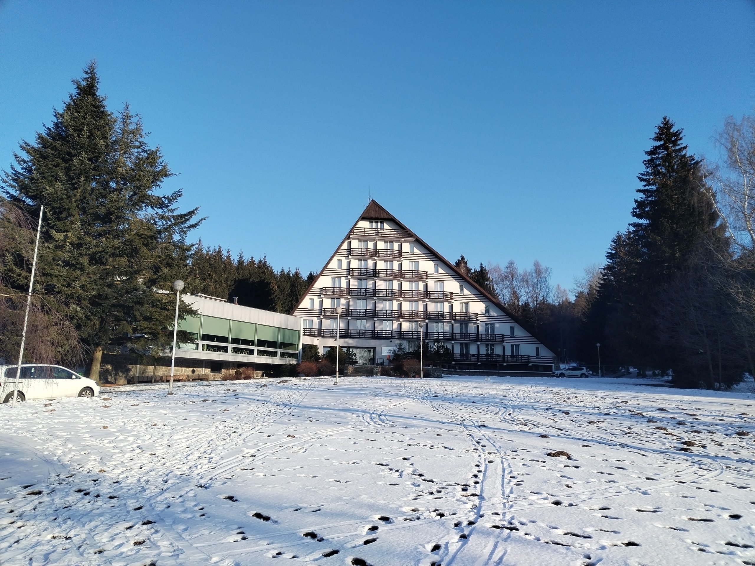
[[5, 405], [0, 563], [755, 564], [755, 396], [657, 383], [255, 380]]

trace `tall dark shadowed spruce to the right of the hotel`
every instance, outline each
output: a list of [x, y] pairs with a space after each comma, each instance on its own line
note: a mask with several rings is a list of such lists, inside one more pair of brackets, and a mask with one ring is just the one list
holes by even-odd
[[652, 140], [655, 145], [646, 151], [645, 170], [638, 176], [643, 186], [632, 211], [636, 221], [614, 238], [593, 306], [605, 327], [602, 333], [593, 328], [585, 334], [593, 339], [605, 334], [606, 355], [620, 363], [666, 370], [671, 366], [668, 345], [658, 342], [662, 293], [694, 260], [700, 242], [720, 229], [704, 195], [701, 162], [687, 152], [683, 131], [664, 117]]

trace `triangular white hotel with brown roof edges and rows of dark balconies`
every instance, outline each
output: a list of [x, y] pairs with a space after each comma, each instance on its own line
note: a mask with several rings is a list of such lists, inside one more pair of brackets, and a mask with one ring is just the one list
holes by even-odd
[[[341, 328], [336, 329], [336, 307]], [[370, 201], [292, 313], [302, 343], [321, 352], [350, 349], [364, 365], [382, 364], [399, 342], [445, 343], [447, 368], [553, 371], [553, 352], [501, 303], [376, 201]]]

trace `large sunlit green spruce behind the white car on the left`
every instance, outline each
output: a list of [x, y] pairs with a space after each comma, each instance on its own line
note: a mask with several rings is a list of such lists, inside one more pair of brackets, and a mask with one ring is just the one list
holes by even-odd
[[166, 342], [173, 303], [155, 290], [186, 276], [197, 209], [177, 211], [180, 191], [157, 193], [172, 173], [128, 106], [107, 109], [95, 64], [73, 84], [52, 124], [20, 144], [3, 185], [28, 214], [45, 206], [38, 292], [64, 306], [98, 379], [103, 349]]

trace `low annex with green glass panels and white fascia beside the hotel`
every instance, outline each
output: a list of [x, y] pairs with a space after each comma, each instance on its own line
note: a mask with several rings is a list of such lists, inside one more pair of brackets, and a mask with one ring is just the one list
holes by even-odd
[[194, 368], [202, 361], [202, 373], [297, 363], [301, 349], [301, 319], [252, 309], [204, 295], [183, 295], [183, 301], [199, 313], [179, 322], [196, 343], [179, 344], [176, 366]]

